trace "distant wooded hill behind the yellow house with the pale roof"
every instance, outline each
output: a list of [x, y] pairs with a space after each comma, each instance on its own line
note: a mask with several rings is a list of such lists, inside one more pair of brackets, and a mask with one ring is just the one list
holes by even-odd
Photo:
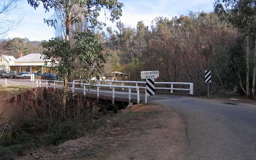
[[12, 55], [15, 58], [19, 58], [20, 52], [23, 52], [23, 55], [41, 53], [43, 48], [40, 43], [40, 41], [30, 41], [28, 38], [4, 39], [0, 42], [0, 52], [4, 55]]

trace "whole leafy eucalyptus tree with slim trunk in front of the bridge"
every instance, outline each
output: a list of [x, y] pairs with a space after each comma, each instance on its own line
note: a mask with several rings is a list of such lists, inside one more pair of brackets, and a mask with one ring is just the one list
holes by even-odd
[[[46, 58], [51, 57], [54, 61], [59, 61], [59, 65], [55, 69], [63, 78], [62, 105], [65, 110], [68, 79], [74, 74], [92, 76], [95, 72], [91, 73], [91, 68], [95, 68], [96, 73], [99, 73], [101, 71], [99, 68], [102, 68], [102, 63], [105, 62], [105, 56], [101, 53], [104, 49], [103, 44], [94, 32], [95, 27], [101, 29], [105, 23], [100, 22], [97, 17], [102, 11], [105, 16], [108, 12], [110, 14], [108, 19], [114, 22], [120, 18], [123, 4], [118, 0], [28, 0], [28, 3], [34, 9], [42, 4], [46, 12], [54, 10], [55, 13], [61, 13], [61, 19], [65, 24], [65, 39], [56, 37], [49, 42], [44, 41], [42, 44], [46, 48], [43, 52]], [[76, 33], [74, 37], [77, 42], [72, 45], [70, 43], [71, 28], [74, 24], [81, 22], [82, 19], [88, 23], [88, 28], [84, 32]], [[44, 22], [55, 27], [57, 19], [52, 16], [44, 19]], [[73, 66], [76, 57], [84, 63], [78, 70], [74, 70]]]

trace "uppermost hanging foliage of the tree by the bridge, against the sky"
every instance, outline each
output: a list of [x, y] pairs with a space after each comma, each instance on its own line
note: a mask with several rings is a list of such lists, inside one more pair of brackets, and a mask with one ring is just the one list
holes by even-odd
[[[111, 17], [109, 17], [109, 20], [112, 22], [116, 19], [119, 19], [119, 17], [122, 15], [121, 8], [124, 6], [124, 4], [118, 2], [117, 0], [76, 0], [76, 1], [58, 1], [58, 0], [28, 0], [28, 4], [33, 6], [35, 9], [39, 6], [39, 4], [42, 3], [44, 6], [44, 9], [46, 12], [49, 12], [50, 9], [53, 10], [61, 10], [63, 13], [65, 13], [65, 16], [70, 17], [70, 24], [73, 24], [75, 22], [79, 22], [81, 17], [74, 17], [74, 15], [69, 15], [71, 9], [76, 12], [81, 12], [85, 18], [86, 22], [89, 22], [90, 27], [94, 28], [95, 26], [100, 27], [101, 25], [105, 25], [104, 22], [99, 22], [97, 20], [97, 17], [100, 15], [99, 12], [105, 8], [110, 12]], [[75, 8], [79, 7], [79, 10], [76, 10]], [[106, 15], [106, 10], [104, 10], [104, 13]], [[51, 25], [55, 27], [57, 20], [56, 19], [44, 19], [44, 22], [46, 22], [48, 25]]]

